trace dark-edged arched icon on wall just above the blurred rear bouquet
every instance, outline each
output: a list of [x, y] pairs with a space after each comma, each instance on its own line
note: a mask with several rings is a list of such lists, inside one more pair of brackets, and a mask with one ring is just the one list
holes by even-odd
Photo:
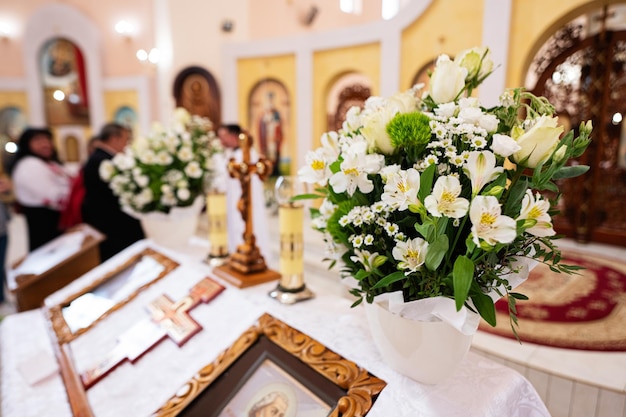
[[201, 67], [182, 70], [174, 80], [176, 107], [191, 114], [208, 117], [215, 127], [221, 123], [220, 91], [215, 77]]

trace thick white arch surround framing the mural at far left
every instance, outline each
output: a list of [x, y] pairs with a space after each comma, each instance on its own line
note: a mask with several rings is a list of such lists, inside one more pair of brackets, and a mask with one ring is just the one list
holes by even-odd
[[76, 44], [84, 53], [85, 67], [90, 75], [87, 84], [90, 102], [89, 122], [92, 130], [104, 124], [102, 89], [101, 39], [97, 25], [77, 9], [65, 4], [47, 4], [35, 11], [24, 31], [24, 68], [29, 102], [29, 121], [46, 124], [44, 100], [39, 80], [39, 51], [46, 41], [63, 37]]

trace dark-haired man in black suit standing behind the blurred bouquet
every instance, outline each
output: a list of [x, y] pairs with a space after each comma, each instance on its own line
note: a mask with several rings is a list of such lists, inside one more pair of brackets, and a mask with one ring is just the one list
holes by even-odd
[[131, 141], [131, 130], [119, 123], [107, 123], [95, 141], [95, 150], [83, 169], [85, 196], [82, 219], [106, 236], [100, 243], [100, 259], [105, 261], [144, 238], [141, 223], [122, 211], [119, 199], [100, 177], [100, 164], [124, 151]]

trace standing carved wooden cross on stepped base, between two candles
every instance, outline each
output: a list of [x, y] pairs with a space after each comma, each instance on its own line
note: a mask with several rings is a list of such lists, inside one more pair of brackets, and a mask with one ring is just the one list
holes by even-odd
[[272, 162], [263, 156], [255, 164], [250, 162], [252, 138], [245, 133], [239, 135], [239, 146], [243, 152], [243, 160], [238, 163], [231, 158], [228, 162], [228, 172], [232, 178], [238, 179], [241, 183], [241, 199], [237, 208], [245, 223], [243, 243], [237, 246], [237, 252], [233, 253], [224, 265], [214, 268], [213, 272], [231, 284], [244, 288], [279, 279], [280, 274], [267, 268], [265, 259], [256, 246], [252, 223], [250, 187], [252, 175], [256, 174], [261, 181], [265, 181], [272, 172]]

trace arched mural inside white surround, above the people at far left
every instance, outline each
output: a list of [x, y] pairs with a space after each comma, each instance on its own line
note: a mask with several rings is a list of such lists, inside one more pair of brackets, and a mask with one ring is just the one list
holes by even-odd
[[88, 126], [87, 71], [81, 50], [68, 39], [50, 39], [41, 48], [40, 65], [47, 124]]

